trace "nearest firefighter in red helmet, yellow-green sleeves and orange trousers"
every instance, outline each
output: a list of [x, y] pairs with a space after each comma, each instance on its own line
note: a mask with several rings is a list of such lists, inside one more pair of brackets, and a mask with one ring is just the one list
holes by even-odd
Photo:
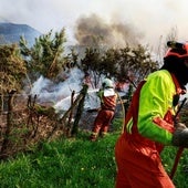
[[174, 188], [160, 153], [188, 147], [188, 128], [175, 121], [188, 83], [188, 42], [168, 42], [164, 65], [138, 85], [115, 145], [116, 188]]

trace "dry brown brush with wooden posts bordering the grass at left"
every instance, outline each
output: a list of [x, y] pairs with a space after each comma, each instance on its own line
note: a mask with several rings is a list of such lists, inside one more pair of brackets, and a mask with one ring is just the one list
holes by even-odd
[[53, 106], [39, 104], [36, 97], [15, 95], [11, 111], [3, 111], [0, 115], [0, 158], [7, 158], [20, 150], [27, 152], [35, 144], [58, 136], [74, 136], [86, 91], [87, 87], [83, 86], [81, 94], [62, 117], [55, 113]]

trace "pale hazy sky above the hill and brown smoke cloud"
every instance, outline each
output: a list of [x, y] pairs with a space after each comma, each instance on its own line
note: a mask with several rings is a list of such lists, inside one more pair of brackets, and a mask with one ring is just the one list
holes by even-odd
[[29, 24], [42, 33], [65, 28], [70, 41], [77, 19], [92, 13], [105, 23], [133, 27], [150, 45], [171, 29], [179, 40], [188, 40], [187, 0], [0, 0], [0, 21]]

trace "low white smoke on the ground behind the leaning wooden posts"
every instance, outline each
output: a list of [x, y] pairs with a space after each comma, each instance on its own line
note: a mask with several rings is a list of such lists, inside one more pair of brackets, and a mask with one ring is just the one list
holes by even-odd
[[[63, 114], [71, 106], [71, 94], [74, 91], [74, 98], [80, 94], [82, 90], [84, 73], [79, 69], [71, 70], [67, 79], [59, 84], [40, 76], [36, 82], [33, 83], [31, 88], [31, 95], [36, 96], [36, 102], [44, 105], [51, 105], [55, 108], [55, 112]], [[96, 96], [98, 90], [88, 88], [86, 95], [85, 108], [97, 108], [100, 101]]]

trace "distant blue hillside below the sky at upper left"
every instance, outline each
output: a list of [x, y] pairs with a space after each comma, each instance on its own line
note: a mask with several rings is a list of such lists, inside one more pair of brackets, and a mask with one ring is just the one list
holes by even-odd
[[18, 43], [21, 35], [32, 45], [41, 33], [27, 24], [0, 22], [0, 44]]

